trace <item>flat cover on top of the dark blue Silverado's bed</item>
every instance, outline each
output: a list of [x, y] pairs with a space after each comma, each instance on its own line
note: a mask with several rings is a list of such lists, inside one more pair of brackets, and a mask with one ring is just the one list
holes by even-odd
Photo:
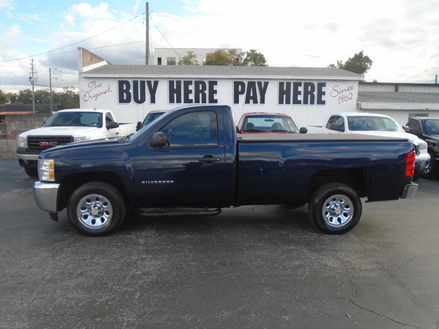
[[260, 142], [403, 142], [407, 138], [369, 136], [362, 134], [236, 134], [238, 143]]

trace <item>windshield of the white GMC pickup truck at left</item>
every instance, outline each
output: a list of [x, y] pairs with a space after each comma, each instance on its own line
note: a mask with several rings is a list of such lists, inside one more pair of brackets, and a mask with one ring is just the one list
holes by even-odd
[[102, 113], [99, 112], [57, 112], [47, 120], [44, 127], [79, 126], [102, 128]]

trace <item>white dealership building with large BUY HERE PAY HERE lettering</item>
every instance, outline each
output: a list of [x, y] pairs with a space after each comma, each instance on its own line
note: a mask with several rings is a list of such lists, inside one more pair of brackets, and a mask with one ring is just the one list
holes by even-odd
[[186, 104], [224, 104], [235, 120], [278, 112], [299, 127], [321, 124], [331, 113], [356, 111], [363, 80], [339, 68], [112, 65], [90, 54], [78, 49], [80, 107], [110, 109], [123, 122]]

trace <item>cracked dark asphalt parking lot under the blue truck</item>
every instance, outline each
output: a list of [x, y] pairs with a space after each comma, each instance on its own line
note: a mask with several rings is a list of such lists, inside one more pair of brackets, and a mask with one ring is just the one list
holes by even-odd
[[0, 159], [1, 328], [439, 328], [439, 181], [363, 203], [329, 236], [306, 207], [205, 218], [128, 212], [114, 234], [53, 222]]

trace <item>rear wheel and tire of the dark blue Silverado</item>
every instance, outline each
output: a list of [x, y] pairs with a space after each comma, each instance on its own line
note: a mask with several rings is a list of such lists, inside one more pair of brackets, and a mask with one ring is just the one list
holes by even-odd
[[[327, 202], [330, 197], [337, 195], [342, 197], [335, 198], [335, 202], [334, 200]], [[327, 205], [330, 207], [327, 208]], [[324, 207], [325, 211], [323, 211]], [[345, 184], [329, 183], [320, 186], [309, 199], [308, 217], [314, 226], [325, 233], [344, 234], [358, 224], [362, 209], [360, 197], [355, 190]], [[331, 215], [338, 211], [340, 211], [338, 215]], [[328, 217], [324, 218], [324, 214]]]

